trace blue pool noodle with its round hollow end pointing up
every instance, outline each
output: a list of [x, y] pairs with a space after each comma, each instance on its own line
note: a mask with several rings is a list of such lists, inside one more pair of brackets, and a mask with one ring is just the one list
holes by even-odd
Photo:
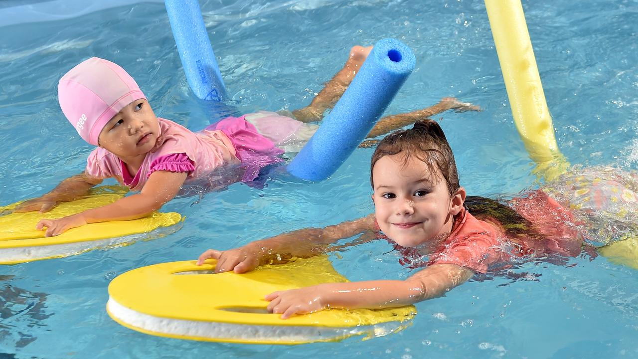
[[415, 63], [403, 42], [379, 40], [334, 109], [290, 162], [288, 172], [321, 181], [337, 171], [375, 126]]

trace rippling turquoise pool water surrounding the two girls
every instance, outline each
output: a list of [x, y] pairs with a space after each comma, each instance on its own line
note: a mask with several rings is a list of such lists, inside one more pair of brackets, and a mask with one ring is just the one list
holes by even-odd
[[[638, 169], [638, 5], [524, 5], [563, 153], [574, 164]], [[476, 103], [483, 112], [436, 117], [443, 118], [462, 185], [475, 195], [533, 185], [482, 2], [237, 0], [202, 1], [202, 9], [239, 111], [306, 105], [352, 45], [399, 38], [412, 47], [417, 67], [386, 113], [443, 96]], [[64, 119], [56, 84], [89, 56], [124, 66], [159, 116], [193, 130], [208, 123], [206, 107], [189, 92], [161, 3], [0, 27], [0, 38], [0, 204], [41, 195], [82, 171], [91, 148]], [[108, 282], [131, 268], [367, 215], [371, 153], [355, 151], [322, 183], [279, 174], [263, 190], [235, 184], [202, 199], [176, 199], [164, 210], [181, 212], [186, 222], [163, 238], [1, 267], [0, 358], [638, 357], [637, 272], [604, 257], [527, 263], [510, 275], [477, 277], [419, 303], [419, 315], [403, 332], [367, 341], [191, 342], [133, 332], [107, 316]], [[369, 243], [332, 259], [350, 280], [410, 275], [390, 250]]]

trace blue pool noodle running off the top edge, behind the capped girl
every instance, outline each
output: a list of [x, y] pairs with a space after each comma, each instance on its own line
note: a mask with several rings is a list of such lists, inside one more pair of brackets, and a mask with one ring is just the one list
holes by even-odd
[[165, 0], [164, 4], [193, 93], [202, 100], [222, 102], [226, 97], [226, 86], [212, 52], [198, 0]]

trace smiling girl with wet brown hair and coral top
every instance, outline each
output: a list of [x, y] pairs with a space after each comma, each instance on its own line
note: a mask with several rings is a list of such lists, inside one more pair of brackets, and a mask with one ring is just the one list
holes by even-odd
[[[197, 264], [213, 258], [216, 272], [244, 273], [262, 264], [323, 254], [330, 244], [359, 235], [354, 244], [387, 240], [399, 252], [399, 263], [424, 267], [405, 280], [319, 284], [267, 295], [269, 311], [286, 319], [327, 308], [400, 307], [441, 296], [475, 273], [531, 258], [564, 261], [581, 254], [583, 243], [592, 248], [637, 234], [635, 173], [581, 171], [507, 202], [467, 196], [445, 134], [431, 119], [385, 137], [372, 156], [370, 172], [375, 213], [231, 250], [209, 249]], [[563, 190], [556, 192], [559, 187]], [[607, 192], [601, 192], [602, 188]], [[583, 194], [585, 190], [598, 200]], [[620, 213], [610, 213], [616, 208], [634, 215], [621, 218]], [[616, 233], [604, 233], [601, 238], [596, 218], [603, 217], [616, 224], [630, 221], [634, 227], [616, 225]]]

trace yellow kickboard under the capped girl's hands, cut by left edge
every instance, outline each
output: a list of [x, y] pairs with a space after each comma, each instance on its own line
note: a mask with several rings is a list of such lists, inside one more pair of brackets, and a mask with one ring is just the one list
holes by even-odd
[[[0, 213], [9, 213], [0, 217], [0, 264], [66, 257], [98, 247], [122, 245], [181, 222], [179, 213], [154, 212], [137, 220], [82, 225], [53, 237], [45, 237], [45, 231], [36, 229], [36, 224], [43, 218], [61, 218], [105, 206], [124, 197], [126, 192], [126, 188], [119, 186], [93, 188], [87, 197], [63, 202], [47, 213], [11, 213], [20, 202], [0, 207]], [[177, 229], [179, 227], [175, 226], [174, 231]]]

